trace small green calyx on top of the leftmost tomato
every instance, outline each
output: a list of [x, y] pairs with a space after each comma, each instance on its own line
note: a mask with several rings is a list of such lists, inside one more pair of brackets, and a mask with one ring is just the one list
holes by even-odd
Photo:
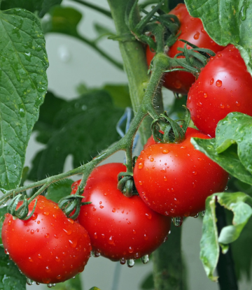
[[[32, 209], [31, 213], [28, 215], [29, 202], [28, 202], [25, 195], [18, 194], [17, 196], [15, 196], [13, 198], [11, 203], [8, 205], [7, 212], [9, 212], [10, 215], [12, 215], [15, 218], [27, 220], [34, 214], [34, 210], [36, 208], [37, 201], [38, 200], [36, 199], [35, 204], [34, 204], [34, 208]], [[20, 203], [20, 202], [22, 202], [22, 205], [20, 205], [20, 207], [18, 209], [16, 209], [18, 206], [18, 203]]]

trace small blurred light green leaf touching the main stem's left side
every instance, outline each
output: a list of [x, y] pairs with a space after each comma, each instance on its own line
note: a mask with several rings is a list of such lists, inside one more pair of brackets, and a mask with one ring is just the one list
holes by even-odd
[[130, 91], [127, 85], [104, 85], [103, 89], [109, 92], [116, 107], [126, 108], [132, 106]]

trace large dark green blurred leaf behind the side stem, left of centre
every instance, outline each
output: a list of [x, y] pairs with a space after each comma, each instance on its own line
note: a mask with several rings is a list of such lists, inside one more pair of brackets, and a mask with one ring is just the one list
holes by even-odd
[[35, 157], [29, 179], [40, 180], [62, 172], [69, 154], [73, 156], [74, 168], [90, 161], [119, 140], [116, 123], [122, 115], [123, 110], [113, 106], [111, 96], [104, 90], [66, 102], [55, 114], [52, 121], [55, 131], [45, 150]]

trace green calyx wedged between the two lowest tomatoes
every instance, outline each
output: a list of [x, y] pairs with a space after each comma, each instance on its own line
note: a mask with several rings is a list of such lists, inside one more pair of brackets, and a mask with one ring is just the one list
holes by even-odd
[[80, 187], [78, 187], [76, 194], [70, 194], [69, 196], [64, 196], [62, 199], [60, 199], [58, 205], [59, 208], [64, 212], [66, 217], [76, 219], [80, 213], [80, 206], [91, 203], [91, 201], [82, 203], [81, 201], [84, 198], [84, 196], [79, 195], [79, 193]]

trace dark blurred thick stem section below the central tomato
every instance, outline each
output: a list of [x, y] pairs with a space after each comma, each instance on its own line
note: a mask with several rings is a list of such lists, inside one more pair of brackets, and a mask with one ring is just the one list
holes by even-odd
[[168, 240], [153, 253], [155, 290], [185, 290], [181, 255], [181, 227], [172, 225]]

